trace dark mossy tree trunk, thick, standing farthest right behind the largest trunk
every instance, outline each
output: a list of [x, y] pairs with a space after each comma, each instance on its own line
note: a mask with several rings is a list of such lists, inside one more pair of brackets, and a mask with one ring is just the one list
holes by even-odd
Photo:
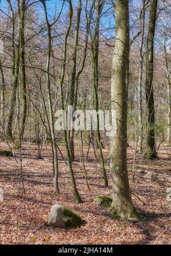
[[155, 141], [155, 109], [153, 96], [153, 75], [154, 75], [154, 35], [156, 29], [156, 13], [158, 0], [152, 0], [150, 5], [149, 27], [146, 42], [146, 104], [148, 107], [148, 136], [146, 141], [146, 156], [149, 159], [157, 159]]

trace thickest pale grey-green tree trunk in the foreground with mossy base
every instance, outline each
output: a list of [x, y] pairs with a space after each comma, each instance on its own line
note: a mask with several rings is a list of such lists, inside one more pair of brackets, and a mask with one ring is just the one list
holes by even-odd
[[127, 172], [127, 84], [129, 61], [128, 0], [116, 0], [116, 39], [112, 63], [112, 110], [116, 111], [116, 134], [111, 137], [113, 201], [111, 212], [121, 218], [137, 219]]

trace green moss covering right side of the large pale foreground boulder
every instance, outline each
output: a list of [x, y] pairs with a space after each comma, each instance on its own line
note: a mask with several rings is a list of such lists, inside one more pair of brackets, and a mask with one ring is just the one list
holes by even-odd
[[83, 223], [82, 218], [72, 209], [64, 208], [63, 210], [64, 215], [64, 224], [66, 227], [78, 227], [81, 226]]

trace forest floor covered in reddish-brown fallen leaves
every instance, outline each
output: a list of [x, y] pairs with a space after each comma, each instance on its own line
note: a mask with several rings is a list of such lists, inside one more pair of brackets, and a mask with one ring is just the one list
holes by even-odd
[[[143, 160], [136, 156], [136, 180], [132, 181], [134, 145], [128, 147], [128, 173], [132, 199], [141, 214], [139, 222], [127, 222], [112, 218], [106, 208], [93, 203], [98, 194], [111, 196], [112, 186], [109, 172], [109, 155], [104, 149], [107, 161], [109, 187], [104, 188], [99, 160], [95, 160], [91, 149], [86, 162], [87, 189], [79, 153], [73, 163], [76, 184], [83, 203], [76, 204], [72, 196], [67, 166], [59, 153], [59, 189], [54, 196], [52, 158], [50, 146], [43, 146], [42, 159], [38, 159], [38, 146], [23, 144], [21, 183], [21, 161], [19, 152], [15, 157], [0, 157], [0, 244], [169, 244], [171, 243], [171, 203], [166, 201], [166, 188], [171, 186], [166, 178], [171, 176], [169, 155], [171, 147], [160, 147], [160, 160]], [[5, 143], [0, 148], [8, 149]], [[28, 150], [27, 150], [28, 148]], [[60, 145], [64, 154], [64, 148]], [[86, 148], [85, 148], [86, 155]], [[108, 156], [108, 157], [107, 157]], [[156, 180], [139, 178], [141, 172], [154, 172]], [[144, 174], [141, 174], [144, 175]], [[137, 182], [139, 180], [139, 182]], [[137, 198], [139, 197], [139, 198]], [[145, 204], [143, 204], [143, 201]], [[78, 229], [64, 230], [47, 225], [48, 214], [53, 204], [62, 204], [76, 210], [86, 224]]]

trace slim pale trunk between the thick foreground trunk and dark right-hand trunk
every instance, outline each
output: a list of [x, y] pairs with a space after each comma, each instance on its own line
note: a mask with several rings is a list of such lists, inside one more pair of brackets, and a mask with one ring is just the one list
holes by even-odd
[[142, 9], [140, 15], [140, 30], [141, 30], [141, 42], [139, 51], [139, 82], [138, 82], [138, 118], [139, 118], [139, 129], [138, 129], [138, 145], [137, 152], [143, 151], [143, 105], [142, 105], [142, 79], [143, 79], [143, 44], [144, 44], [144, 26], [145, 26], [145, 0], [142, 0]]

